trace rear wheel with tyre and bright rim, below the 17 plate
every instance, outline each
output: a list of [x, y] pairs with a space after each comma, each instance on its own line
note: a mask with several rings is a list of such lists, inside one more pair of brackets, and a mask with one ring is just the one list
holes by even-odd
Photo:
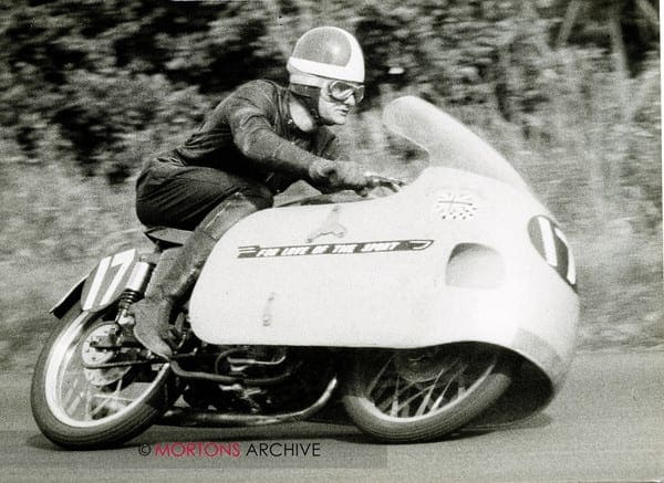
[[138, 348], [90, 346], [92, 337], [115, 327], [113, 316], [114, 311], [91, 314], [74, 305], [39, 356], [30, 393], [32, 414], [42, 433], [60, 447], [120, 445], [152, 426], [177, 397], [168, 364], [83, 367], [83, 357], [91, 354], [93, 363], [136, 358]]

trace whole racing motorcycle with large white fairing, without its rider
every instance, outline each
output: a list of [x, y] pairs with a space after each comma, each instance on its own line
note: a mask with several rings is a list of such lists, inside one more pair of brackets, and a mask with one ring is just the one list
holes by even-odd
[[52, 309], [61, 323], [31, 390], [43, 434], [96, 449], [154, 423], [260, 426], [343, 407], [369, 437], [406, 443], [544, 408], [579, 315], [562, 230], [505, 158], [432, 104], [400, 97], [384, 124], [426, 154], [412, 180], [374, 175], [384, 196], [322, 195], [241, 220], [205, 264], [168, 361], [133, 337], [127, 311], [189, 233], [152, 228], [153, 252], [103, 258]]

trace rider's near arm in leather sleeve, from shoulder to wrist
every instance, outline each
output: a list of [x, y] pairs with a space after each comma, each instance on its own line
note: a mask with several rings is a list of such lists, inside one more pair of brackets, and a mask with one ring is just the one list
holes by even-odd
[[245, 85], [225, 102], [224, 111], [235, 145], [258, 168], [309, 177], [309, 167], [320, 158], [274, 132], [270, 118], [276, 105], [268, 93]]

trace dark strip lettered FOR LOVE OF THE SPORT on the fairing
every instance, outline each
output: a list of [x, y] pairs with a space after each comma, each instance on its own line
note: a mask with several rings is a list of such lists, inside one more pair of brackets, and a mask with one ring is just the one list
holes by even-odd
[[417, 252], [428, 249], [433, 240], [386, 240], [359, 243], [325, 243], [286, 246], [238, 246], [238, 259], [269, 259], [277, 256], [346, 255], [385, 252]]

